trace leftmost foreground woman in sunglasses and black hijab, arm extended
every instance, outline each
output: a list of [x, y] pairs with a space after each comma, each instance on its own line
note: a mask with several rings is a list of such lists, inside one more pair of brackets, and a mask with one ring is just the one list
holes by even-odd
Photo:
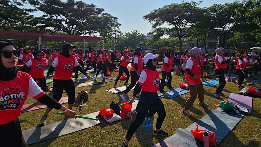
[[[18, 116], [27, 97], [64, 111], [69, 117], [77, 115], [46, 95], [32, 77], [17, 70], [20, 50], [12, 43], [0, 41], [0, 143], [1, 146], [26, 146]], [[15, 138], [15, 141], [10, 141]]]

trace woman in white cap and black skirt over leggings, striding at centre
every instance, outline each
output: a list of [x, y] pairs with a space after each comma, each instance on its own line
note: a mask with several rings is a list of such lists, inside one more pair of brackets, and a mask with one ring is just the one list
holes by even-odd
[[144, 56], [144, 63], [146, 64], [144, 70], [141, 72], [139, 80], [134, 88], [132, 99], [129, 99], [129, 103], [132, 104], [135, 96], [142, 89], [142, 93], [137, 104], [137, 115], [135, 120], [131, 123], [126, 139], [122, 143], [121, 147], [127, 147], [131, 137], [139, 126], [143, 123], [145, 117], [151, 117], [156, 112], [159, 115], [157, 118], [156, 128], [153, 130], [155, 136], [168, 136], [168, 133], [161, 130], [162, 123], [166, 116], [164, 105], [158, 97], [157, 91], [160, 90], [165, 98], [168, 95], [165, 93], [160, 85], [160, 76], [158, 70], [156, 70], [157, 60], [159, 54], [153, 55], [148, 53]]

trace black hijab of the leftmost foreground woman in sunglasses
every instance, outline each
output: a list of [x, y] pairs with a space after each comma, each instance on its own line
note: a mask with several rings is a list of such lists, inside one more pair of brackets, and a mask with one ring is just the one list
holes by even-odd
[[[6, 42], [6, 41], [0, 41], [0, 52], [5, 46], [14, 46], [16, 50], [18, 48], [14, 45], [12, 42]], [[0, 80], [1, 81], [10, 81], [14, 79], [17, 76], [18, 70], [17, 67], [14, 66], [13, 68], [6, 68], [3, 63], [2, 59], [0, 57]]]

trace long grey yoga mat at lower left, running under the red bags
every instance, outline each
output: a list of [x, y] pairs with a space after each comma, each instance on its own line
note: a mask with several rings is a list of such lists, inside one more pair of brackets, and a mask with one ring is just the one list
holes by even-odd
[[[131, 110], [136, 109], [137, 103], [138, 100], [135, 100], [135, 102], [133, 102]], [[99, 111], [83, 116], [95, 118], [98, 114]], [[47, 121], [48, 119], [51, 118], [47, 118]], [[23, 130], [22, 133], [23, 133], [23, 138], [26, 141], [26, 144], [29, 145], [29, 144], [45, 141], [48, 139], [56, 138], [62, 135], [70, 134], [82, 129], [90, 128], [92, 126], [105, 122], [107, 121], [104, 120], [103, 118], [99, 119], [98, 121], [90, 120], [90, 119], [81, 119], [81, 118], [65, 119], [63, 121], [59, 121], [53, 124], [48, 124], [42, 127]]]

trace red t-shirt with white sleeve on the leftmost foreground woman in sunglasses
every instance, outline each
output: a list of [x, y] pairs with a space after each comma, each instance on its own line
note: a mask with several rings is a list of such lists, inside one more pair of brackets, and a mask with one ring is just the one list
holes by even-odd
[[25, 72], [18, 71], [14, 79], [0, 83], [0, 125], [13, 121], [21, 114], [27, 97], [38, 99], [45, 94]]

